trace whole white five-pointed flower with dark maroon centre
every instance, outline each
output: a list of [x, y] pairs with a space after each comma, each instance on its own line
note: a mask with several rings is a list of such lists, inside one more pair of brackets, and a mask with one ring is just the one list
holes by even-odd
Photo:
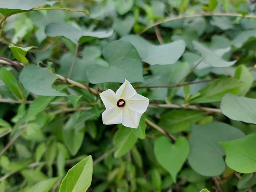
[[125, 83], [115, 92], [108, 89], [99, 94], [106, 110], [102, 113], [105, 125], [120, 124], [138, 128], [140, 117], [147, 110], [149, 99], [139, 95], [131, 83]]

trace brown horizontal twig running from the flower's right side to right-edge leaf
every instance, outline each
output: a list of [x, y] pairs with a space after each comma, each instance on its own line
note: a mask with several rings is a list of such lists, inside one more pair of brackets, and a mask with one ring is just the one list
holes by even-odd
[[149, 108], [192, 109], [192, 110], [207, 111], [210, 113], [221, 113], [220, 109], [200, 107], [198, 105], [183, 106], [183, 105], [178, 105], [178, 104], [149, 104], [148, 107]]

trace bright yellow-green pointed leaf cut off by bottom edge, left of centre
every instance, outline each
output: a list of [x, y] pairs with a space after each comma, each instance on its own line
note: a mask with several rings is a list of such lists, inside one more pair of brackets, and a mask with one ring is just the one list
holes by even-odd
[[73, 166], [64, 177], [59, 192], [85, 192], [93, 177], [93, 159], [88, 156]]

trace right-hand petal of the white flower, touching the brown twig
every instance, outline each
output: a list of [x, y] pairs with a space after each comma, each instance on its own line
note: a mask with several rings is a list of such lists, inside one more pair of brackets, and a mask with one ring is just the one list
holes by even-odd
[[133, 109], [134, 111], [144, 113], [147, 110], [149, 99], [136, 93], [136, 95], [128, 99], [126, 103], [128, 107]]

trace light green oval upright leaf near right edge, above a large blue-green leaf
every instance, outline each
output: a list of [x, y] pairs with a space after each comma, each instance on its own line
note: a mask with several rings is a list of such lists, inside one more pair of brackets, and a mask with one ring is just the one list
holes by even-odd
[[254, 79], [252, 74], [247, 69], [247, 67], [245, 67], [244, 65], [239, 65], [236, 67], [233, 78], [238, 79], [239, 81], [243, 81], [245, 83], [240, 93], [237, 94], [237, 96], [244, 96], [250, 90], [250, 87], [253, 84]]

